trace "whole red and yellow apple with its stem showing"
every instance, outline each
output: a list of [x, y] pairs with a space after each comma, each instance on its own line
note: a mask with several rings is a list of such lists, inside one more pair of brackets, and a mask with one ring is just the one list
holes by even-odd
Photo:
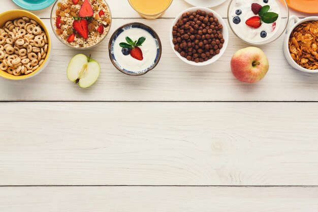
[[232, 73], [241, 82], [260, 81], [265, 77], [268, 68], [267, 56], [262, 49], [256, 47], [240, 49], [231, 59]]

